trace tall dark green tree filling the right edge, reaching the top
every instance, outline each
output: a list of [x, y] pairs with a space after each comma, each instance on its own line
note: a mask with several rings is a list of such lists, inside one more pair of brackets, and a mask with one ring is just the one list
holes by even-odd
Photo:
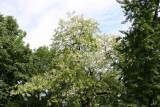
[[119, 51], [128, 104], [160, 106], [159, 0], [117, 0], [132, 26], [122, 31]]

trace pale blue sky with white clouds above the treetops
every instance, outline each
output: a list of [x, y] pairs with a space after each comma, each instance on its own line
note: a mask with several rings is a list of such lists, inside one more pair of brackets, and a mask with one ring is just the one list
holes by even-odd
[[98, 21], [102, 33], [121, 35], [119, 30], [128, 28], [121, 24], [125, 17], [116, 0], [0, 0], [0, 13], [17, 19], [31, 49], [49, 46], [59, 19], [73, 11]]

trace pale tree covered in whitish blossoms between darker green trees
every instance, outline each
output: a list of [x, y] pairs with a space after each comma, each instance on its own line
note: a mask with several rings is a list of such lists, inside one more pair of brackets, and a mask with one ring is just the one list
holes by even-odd
[[98, 34], [98, 23], [93, 19], [72, 13], [68, 17], [60, 20], [53, 36], [52, 70], [34, 76], [12, 94], [32, 97], [38, 91], [37, 97], [43, 93], [51, 106], [118, 104], [123, 85], [108, 56], [115, 38]]

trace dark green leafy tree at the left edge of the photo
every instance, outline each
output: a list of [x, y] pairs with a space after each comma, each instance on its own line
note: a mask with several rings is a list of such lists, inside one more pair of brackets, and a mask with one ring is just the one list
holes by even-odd
[[10, 92], [36, 71], [32, 50], [23, 42], [25, 36], [13, 17], [0, 14], [0, 106], [23, 106], [22, 96]]

